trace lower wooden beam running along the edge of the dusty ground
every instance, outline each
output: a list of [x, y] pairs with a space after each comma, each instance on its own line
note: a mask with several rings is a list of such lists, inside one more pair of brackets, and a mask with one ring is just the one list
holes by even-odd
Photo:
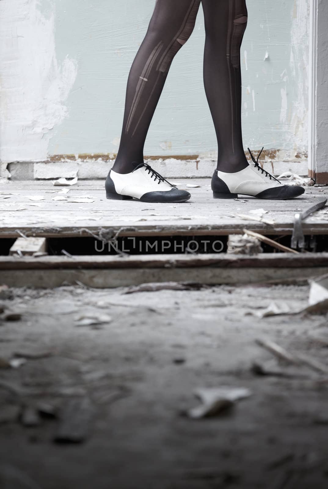
[[0, 283], [9, 287], [53, 288], [84, 284], [107, 289], [150, 282], [197, 282], [207, 285], [289, 283], [317, 277], [328, 272], [327, 267], [300, 268], [124, 268], [124, 269], [54, 269], [0, 270]]

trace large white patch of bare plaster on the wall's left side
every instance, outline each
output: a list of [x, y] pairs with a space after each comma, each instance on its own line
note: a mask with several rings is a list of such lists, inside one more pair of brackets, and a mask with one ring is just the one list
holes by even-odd
[[77, 64], [59, 64], [54, 6], [37, 0], [0, 2], [0, 160], [42, 161], [51, 132], [68, 114], [64, 102]]

